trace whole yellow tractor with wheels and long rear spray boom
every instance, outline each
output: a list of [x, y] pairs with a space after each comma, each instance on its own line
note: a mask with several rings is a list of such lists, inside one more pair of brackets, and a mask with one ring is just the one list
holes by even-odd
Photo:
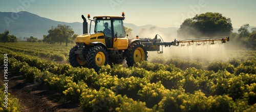
[[[83, 19], [83, 35], [75, 39], [76, 46], [70, 50], [69, 62], [72, 66], [82, 66], [93, 68], [98, 71], [102, 65], [121, 63], [124, 59], [128, 66], [136, 62], [147, 60], [147, 51], [158, 51], [163, 53], [160, 47], [179, 46], [179, 43], [192, 42], [214, 42], [221, 40], [222, 43], [229, 41], [229, 37], [192, 39], [185, 41], [174, 40], [172, 42], [162, 42], [161, 39], [142, 38], [128, 39], [124, 32], [122, 16], [95, 16], [91, 20], [90, 31], [88, 32], [87, 19]], [[95, 23], [94, 33], [91, 32], [92, 21]]]

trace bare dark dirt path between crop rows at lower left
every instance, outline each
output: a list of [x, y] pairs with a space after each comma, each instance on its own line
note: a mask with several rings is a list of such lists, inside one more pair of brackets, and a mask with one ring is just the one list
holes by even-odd
[[[4, 79], [3, 66], [0, 67], [0, 79]], [[54, 92], [45, 89], [42, 84], [27, 82], [21, 75], [8, 72], [8, 92], [19, 99], [21, 111], [81, 111], [78, 103], [65, 101]]]

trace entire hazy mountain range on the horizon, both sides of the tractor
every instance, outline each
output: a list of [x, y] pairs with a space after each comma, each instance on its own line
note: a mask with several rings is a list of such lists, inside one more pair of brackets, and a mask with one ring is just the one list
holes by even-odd
[[[82, 21], [82, 19], [81, 19]], [[38, 39], [42, 39], [43, 35], [48, 34], [48, 30], [52, 27], [56, 27], [58, 24], [69, 25], [74, 30], [75, 34], [82, 34], [82, 23], [65, 23], [62, 21], [56, 21], [45, 17], [40, 17], [39, 15], [32, 14], [26, 11], [20, 12], [0, 12], [0, 33], [5, 30], [9, 30], [11, 35], [16, 37], [30, 37], [34, 36]], [[161, 28], [153, 25], [136, 26], [134, 24], [125, 23], [124, 26], [131, 28], [132, 38], [139, 35], [143, 38], [153, 38], [156, 34], [162, 37], [175, 38], [177, 36], [178, 28]], [[93, 27], [93, 26], [92, 26]], [[250, 27], [253, 28], [253, 27]], [[249, 28], [249, 31], [250, 31]], [[91, 30], [91, 32], [93, 29]], [[237, 32], [238, 29], [234, 29], [233, 32]]]

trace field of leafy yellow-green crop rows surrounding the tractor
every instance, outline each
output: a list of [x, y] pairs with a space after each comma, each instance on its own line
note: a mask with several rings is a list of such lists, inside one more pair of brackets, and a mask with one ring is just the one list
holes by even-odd
[[[149, 53], [148, 61], [130, 68], [115, 64], [94, 71], [69, 64], [73, 46], [1, 43], [0, 64], [82, 111], [256, 111], [256, 51], [231, 50], [214, 60]], [[1, 87], [0, 111], [20, 111], [13, 92], [5, 108]]]

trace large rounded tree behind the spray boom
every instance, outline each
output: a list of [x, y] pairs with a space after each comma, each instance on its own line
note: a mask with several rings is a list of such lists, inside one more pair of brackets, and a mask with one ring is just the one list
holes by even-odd
[[178, 29], [179, 37], [216, 37], [230, 35], [233, 30], [231, 19], [221, 13], [206, 12], [184, 20]]

